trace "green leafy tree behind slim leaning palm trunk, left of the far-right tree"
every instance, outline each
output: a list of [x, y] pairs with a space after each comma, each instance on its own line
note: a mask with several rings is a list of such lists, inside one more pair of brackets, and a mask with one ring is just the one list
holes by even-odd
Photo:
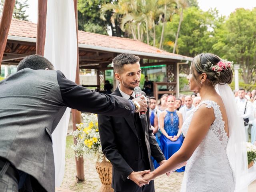
[[[219, 22], [216, 10], [204, 12], [196, 7], [184, 10], [183, 21], [178, 38], [178, 54], [194, 57], [202, 52], [211, 52], [214, 39], [214, 27]], [[166, 26], [166, 38], [164, 49], [172, 52], [178, 29], [180, 16], [174, 15], [171, 22]], [[209, 28], [212, 30], [210, 31]]]

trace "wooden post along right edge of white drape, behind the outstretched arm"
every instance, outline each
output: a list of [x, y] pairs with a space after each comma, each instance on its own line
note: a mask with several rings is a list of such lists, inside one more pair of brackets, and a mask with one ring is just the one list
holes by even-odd
[[[76, 42], [77, 42], [77, 60], [76, 60], [76, 84], [80, 84], [79, 79], [79, 50], [78, 50], [78, 18], [77, 18], [77, 0], [74, 0], [74, 11], [76, 17]], [[76, 123], [82, 122], [81, 120], [81, 112], [75, 109], [71, 109], [72, 112], [72, 122], [73, 122], [73, 130], [76, 130]], [[76, 144], [76, 139], [74, 139], [74, 144]], [[81, 157], [76, 161], [76, 178], [78, 181], [84, 181], [84, 158]]]

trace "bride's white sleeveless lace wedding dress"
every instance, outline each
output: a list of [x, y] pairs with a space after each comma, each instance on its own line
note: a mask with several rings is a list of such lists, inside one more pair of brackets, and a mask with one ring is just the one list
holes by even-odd
[[234, 192], [235, 179], [228, 161], [228, 136], [220, 106], [214, 101], [202, 101], [182, 126], [186, 137], [192, 116], [200, 105], [214, 109], [215, 120], [209, 132], [187, 161], [181, 192]]

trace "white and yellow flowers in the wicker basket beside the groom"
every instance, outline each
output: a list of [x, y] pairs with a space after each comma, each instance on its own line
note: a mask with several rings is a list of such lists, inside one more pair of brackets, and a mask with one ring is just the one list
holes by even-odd
[[89, 156], [97, 155], [98, 161], [102, 162], [104, 154], [100, 144], [97, 114], [82, 114], [82, 118], [83, 123], [76, 124], [78, 129], [70, 133], [77, 141], [72, 145], [76, 157], [82, 157], [84, 153]]

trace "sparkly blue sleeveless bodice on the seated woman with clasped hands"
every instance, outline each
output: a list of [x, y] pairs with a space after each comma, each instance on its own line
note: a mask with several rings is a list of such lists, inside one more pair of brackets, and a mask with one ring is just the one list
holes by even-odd
[[178, 126], [179, 126], [179, 117], [177, 115], [177, 111], [168, 111], [164, 117], [164, 130], [169, 136], [174, 136], [178, 134]]

